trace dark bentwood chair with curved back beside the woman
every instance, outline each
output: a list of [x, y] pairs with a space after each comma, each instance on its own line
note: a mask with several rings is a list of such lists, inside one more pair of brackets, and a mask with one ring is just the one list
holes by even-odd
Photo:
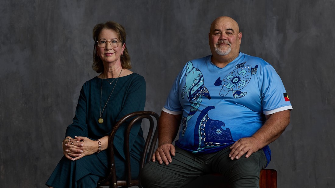
[[[114, 162], [113, 140], [114, 140], [114, 136], [115, 136], [115, 133], [118, 130], [118, 128], [125, 121], [127, 121], [129, 118], [134, 118], [134, 119], [128, 124], [128, 128], [127, 128], [127, 131], [125, 133], [125, 156], [126, 156], [126, 164], [127, 164], [127, 167], [126, 167], [127, 179], [126, 180], [117, 180], [116, 179], [117, 169], [115, 169], [115, 166], [114, 166], [115, 162]], [[140, 179], [133, 180], [131, 178], [130, 153], [129, 153], [129, 133], [130, 133], [130, 130], [131, 130], [132, 126], [134, 125], [134, 123], [136, 123], [137, 121], [140, 121], [142, 119], [148, 119], [149, 120], [149, 130], [148, 130], [148, 135], [147, 135], [147, 138], [145, 140], [145, 145], [144, 145], [142, 156], [141, 156], [140, 172], [141, 172], [141, 169], [143, 168], [143, 166], [145, 164], [145, 161], [147, 163], [151, 159], [151, 156], [154, 153], [154, 149], [155, 149], [156, 142], [157, 142], [157, 137], [158, 137], [157, 128], [155, 129], [155, 131], [153, 133], [154, 124], [155, 124], [154, 119], [156, 119], [156, 123], [157, 123], [158, 119], [159, 119], [159, 116], [155, 112], [151, 112], [151, 111], [139, 111], [139, 112], [133, 112], [133, 113], [130, 113], [130, 114], [126, 115], [125, 117], [120, 119], [115, 124], [115, 126], [114, 126], [114, 128], [111, 132], [111, 135], [109, 137], [109, 143], [108, 143], [109, 144], [109, 156], [110, 156], [110, 160], [111, 160], [110, 161], [110, 173], [104, 180], [98, 182], [98, 188], [101, 188], [99, 186], [109, 186], [110, 188], [112, 188], [112, 187], [117, 188], [118, 186], [122, 186], [122, 188], [126, 188], [126, 187], [135, 186], [135, 185], [141, 187]], [[148, 155], [147, 155], [148, 148], [149, 148], [149, 152], [148, 152]], [[146, 156], [148, 156], [148, 157], [146, 158]]]

